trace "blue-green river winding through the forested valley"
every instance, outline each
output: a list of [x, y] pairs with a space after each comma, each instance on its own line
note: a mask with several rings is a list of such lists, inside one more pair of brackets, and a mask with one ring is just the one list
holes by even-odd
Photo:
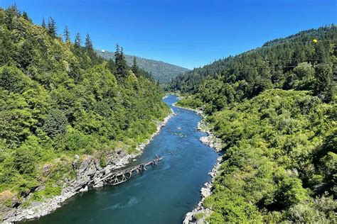
[[27, 223], [182, 223], [200, 201], [200, 188], [210, 181], [208, 172], [218, 154], [199, 141], [205, 135], [196, 130], [201, 116], [172, 106], [176, 101], [176, 96], [164, 99], [177, 116], [132, 162], [164, 156], [156, 167], [117, 186], [77, 194], [53, 213]]

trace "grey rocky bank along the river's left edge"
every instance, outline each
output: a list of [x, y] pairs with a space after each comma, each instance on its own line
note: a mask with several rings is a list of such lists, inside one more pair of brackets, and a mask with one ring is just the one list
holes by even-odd
[[[78, 156], [75, 155], [73, 160], [73, 169], [75, 171], [75, 179], [65, 178], [62, 180], [63, 186], [62, 191], [59, 196], [53, 198], [44, 198], [43, 201], [33, 201], [29, 206], [23, 206], [23, 203], [30, 200], [32, 194], [29, 194], [25, 199], [23, 199], [21, 205], [6, 211], [1, 220], [3, 223], [15, 223], [20, 220], [27, 220], [33, 218], [39, 218], [43, 215], [54, 211], [56, 208], [60, 208], [62, 203], [68, 198], [79, 194], [81, 192], [87, 191], [98, 179], [109, 174], [114, 169], [119, 169], [126, 166], [132, 159], [137, 157], [146, 145], [151, 142], [152, 138], [156, 136], [161, 127], [166, 125], [169, 119], [174, 116], [173, 111], [164, 118], [156, 126], [156, 132], [151, 135], [151, 138], [146, 140], [146, 142], [141, 143], [137, 147], [137, 153], [127, 154], [122, 149], [115, 149], [107, 153], [107, 166], [102, 167], [100, 164], [100, 159], [93, 155]], [[48, 172], [48, 167], [43, 167], [43, 172]], [[103, 184], [96, 184], [95, 187], [103, 186]]]

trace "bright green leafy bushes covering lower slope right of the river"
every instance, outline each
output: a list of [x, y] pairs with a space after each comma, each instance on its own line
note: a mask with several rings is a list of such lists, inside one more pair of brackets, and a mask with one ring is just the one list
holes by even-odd
[[226, 150], [204, 202], [210, 223], [335, 217], [336, 108], [307, 91], [269, 90], [209, 116]]

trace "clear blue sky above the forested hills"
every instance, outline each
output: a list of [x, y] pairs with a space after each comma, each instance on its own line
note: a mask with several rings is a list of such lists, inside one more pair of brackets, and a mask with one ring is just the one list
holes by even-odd
[[34, 23], [52, 16], [72, 38], [90, 33], [98, 49], [182, 67], [203, 66], [267, 40], [336, 23], [337, 0], [0, 0], [16, 2]]

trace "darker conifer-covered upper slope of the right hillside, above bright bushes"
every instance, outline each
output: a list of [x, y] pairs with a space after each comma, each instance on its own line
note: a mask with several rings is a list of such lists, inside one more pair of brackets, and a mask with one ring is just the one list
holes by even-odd
[[[319, 43], [312, 43], [314, 38]], [[310, 90], [330, 102], [336, 91], [336, 38], [337, 26], [331, 25], [272, 40], [181, 74], [168, 89], [193, 94], [208, 114], [273, 88]]]

